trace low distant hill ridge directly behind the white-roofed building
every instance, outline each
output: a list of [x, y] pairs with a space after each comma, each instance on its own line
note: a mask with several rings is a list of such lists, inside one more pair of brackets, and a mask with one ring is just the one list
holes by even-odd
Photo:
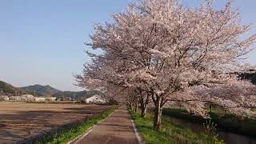
[[58, 92], [56, 94], [53, 94], [53, 96], [56, 98], [73, 98], [73, 95], [74, 95], [74, 99], [80, 100], [80, 99], [90, 98], [94, 94], [101, 94], [101, 92], [98, 90], [90, 90], [90, 91], [84, 90], [84, 91], [78, 91], [78, 92], [63, 91], [63, 92]]

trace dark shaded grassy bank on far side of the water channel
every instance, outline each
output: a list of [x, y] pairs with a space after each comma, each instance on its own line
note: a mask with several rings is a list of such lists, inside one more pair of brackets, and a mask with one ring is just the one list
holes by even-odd
[[[209, 119], [189, 114], [182, 109], [165, 109], [162, 114], [196, 122], [202, 124]], [[234, 114], [225, 113], [223, 110], [213, 109], [210, 113], [211, 122], [217, 124], [217, 128], [221, 128], [226, 132], [235, 134], [243, 134], [250, 137], [256, 137], [256, 120], [254, 118], [243, 118]]]

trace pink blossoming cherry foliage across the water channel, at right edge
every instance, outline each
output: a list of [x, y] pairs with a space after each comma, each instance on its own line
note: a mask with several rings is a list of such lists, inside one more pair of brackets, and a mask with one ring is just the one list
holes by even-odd
[[237, 79], [225, 85], [194, 86], [186, 94], [197, 95], [198, 101], [214, 103], [224, 110], [243, 116], [254, 114], [250, 108], [256, 106], [256, 86]]

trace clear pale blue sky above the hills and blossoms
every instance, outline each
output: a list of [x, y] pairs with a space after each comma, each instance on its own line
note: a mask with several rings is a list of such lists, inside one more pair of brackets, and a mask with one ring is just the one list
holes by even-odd
[[[0, 0], [0, 80], [14, 86], [51, 85], [81, 90], [73, 73], [90, 62], [83, 42], [90, 42], [94, 23], [110, 21], [135, 0]], [[200, 0], [198, 0], [200, 1]], [[196, 6], [196, 0], [186, 0]], [[222, 6], [223, 0], [215, 0]], [[256, 1], [236, 0], [244, 24], [254, 24]], [[256, 51], [248, 61], [256, 64]]]

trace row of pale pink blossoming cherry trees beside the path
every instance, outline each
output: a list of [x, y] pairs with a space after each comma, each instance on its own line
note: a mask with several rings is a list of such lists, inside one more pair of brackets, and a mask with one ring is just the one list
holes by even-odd
[[207, 118], [207, 103], [235, 114], [252, 114], [254, 86], [236, 74], [246, 70], [242, 58], [256, 36], [245, 38], [232, 2], [218, 10], [205, 1], [186, 8], [178, 0], [142, 0], [113, 14], [114, 22], [94, 27], [88, 44], [101, 54], [76, 75], [78, 86], [140, 108], [154, 107], [154, 130], [162, 109], [180, 103]]

